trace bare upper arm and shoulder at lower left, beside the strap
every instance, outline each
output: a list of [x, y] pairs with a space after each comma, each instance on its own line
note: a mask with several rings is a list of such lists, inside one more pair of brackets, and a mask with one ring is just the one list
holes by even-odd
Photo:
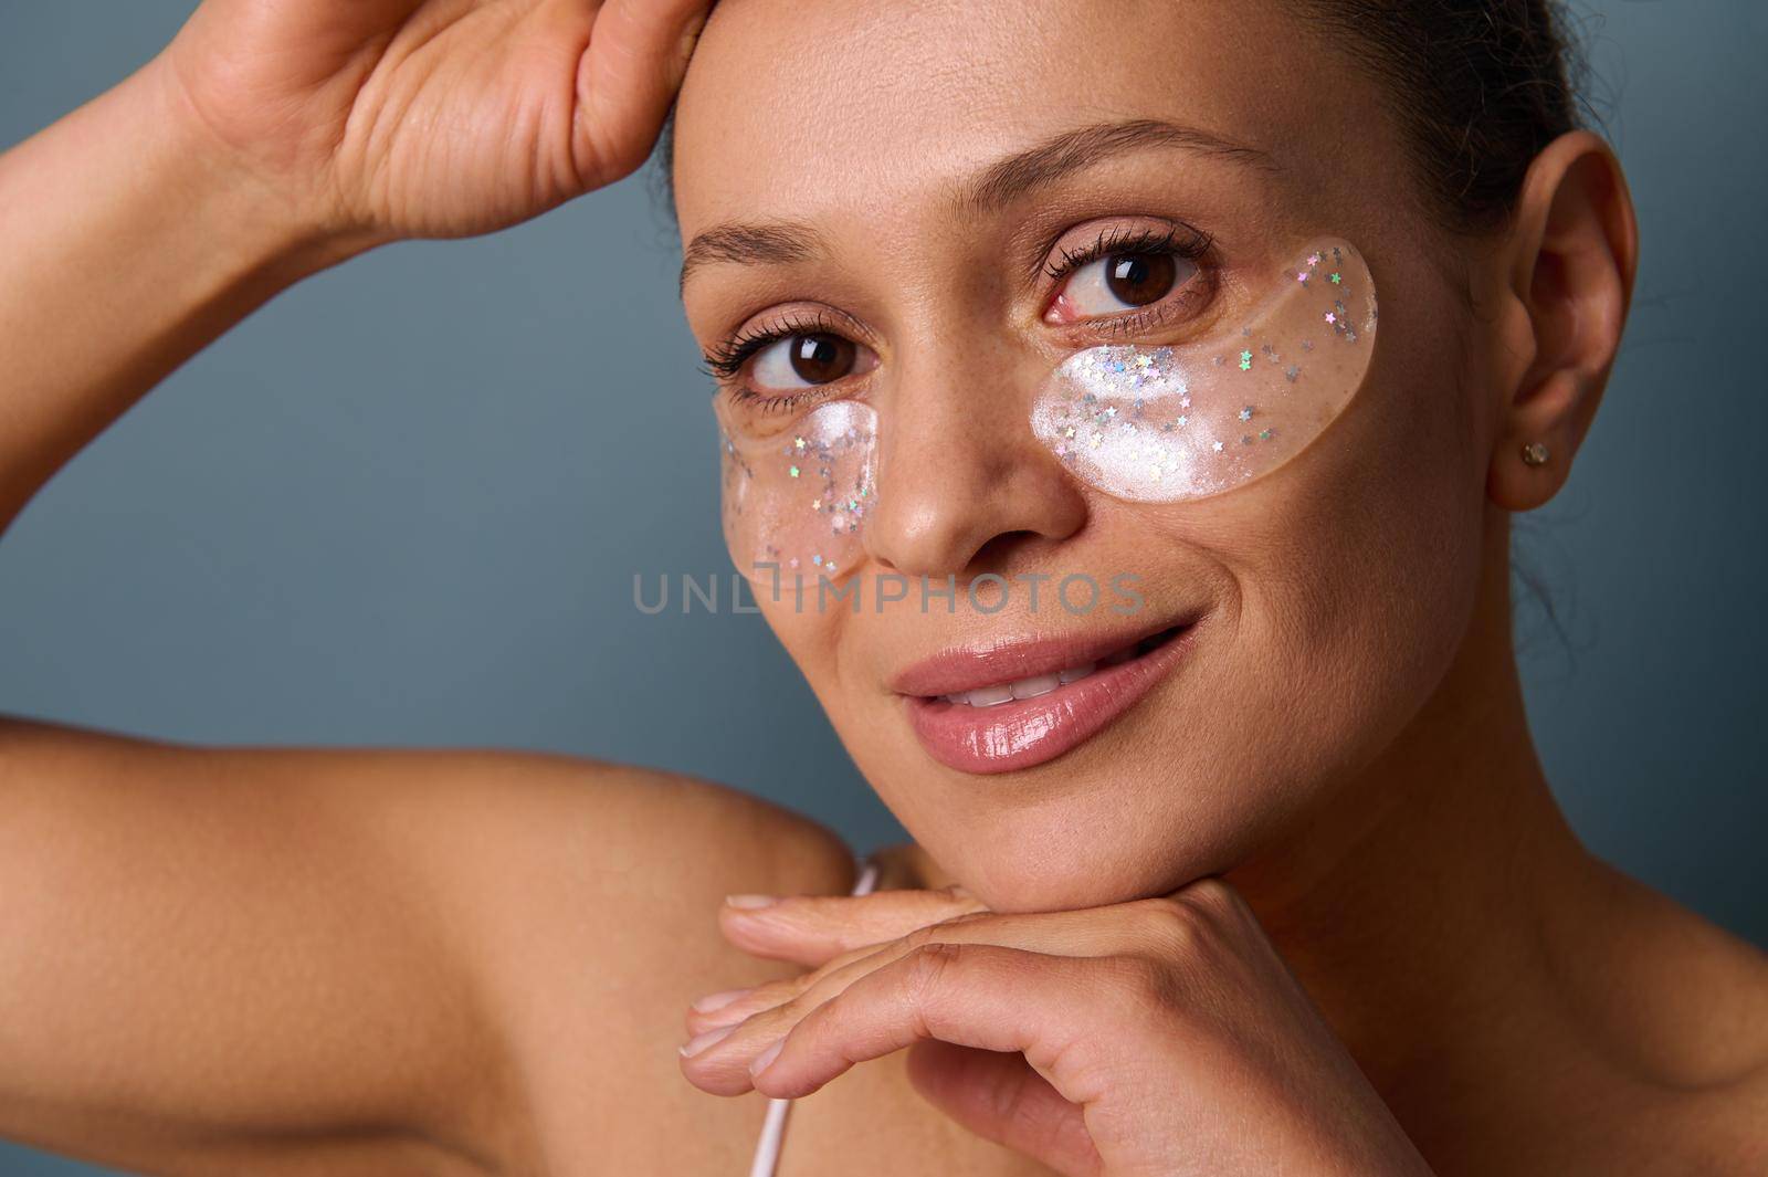
[[681, 1078], [684, 1007], [790, 967], [718, 905], [854, 871], [757, 797], [532, 751], [0, 718], [0, 990], [32, 1029], [0, 1136], [152, 1172], [730, 1168], [762, 1101]]

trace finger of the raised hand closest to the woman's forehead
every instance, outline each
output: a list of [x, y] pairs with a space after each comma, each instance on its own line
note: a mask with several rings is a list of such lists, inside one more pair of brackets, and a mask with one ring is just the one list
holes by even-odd
[[576, 147], [585, 180], [608, 184], [651, 154], [714, 2], [601, 4], [576, 74]]

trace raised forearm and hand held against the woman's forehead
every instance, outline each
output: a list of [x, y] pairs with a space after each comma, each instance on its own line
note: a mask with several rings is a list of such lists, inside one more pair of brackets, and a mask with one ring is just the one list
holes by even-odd
[[638, 168], [711, 0], [209, 0], [0, 156], [0, 532], [301, 277]]

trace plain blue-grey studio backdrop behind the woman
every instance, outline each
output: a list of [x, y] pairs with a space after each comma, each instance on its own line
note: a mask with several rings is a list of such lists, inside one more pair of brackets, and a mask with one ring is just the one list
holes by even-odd
[[[193, 7], [4, 0], [0, 145], [120, 80]], [[1566, 631], [1524, 611], [1529, 714], [1595, 852], [1768, 944], [1768, 5], [1586, 11], [1644, 262], [1575, 475], [1520, 521]], [[728, 567], [675, 249], [640, 175], [281, 295], [0, 543], [0, 712], [594, 755], [766, 794], [859, 848], [902, 836], [758, 617], [633, 608], [635, 573]], [[679, 437], [682, 461], [633, 433]], [[0, 1145], [0, 1175], [95, 1172]]]

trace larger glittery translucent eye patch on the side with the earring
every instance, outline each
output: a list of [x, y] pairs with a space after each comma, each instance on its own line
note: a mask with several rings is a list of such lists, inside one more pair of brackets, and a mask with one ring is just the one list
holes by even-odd
[[1133, 502], [1202, 498], [1276, 470], [1368, 375], [1376, 285], [1349, 242], [1319, 242], [1238, 323], [1199, 343], [1070, 355], [1038, 392], [1033, 433], [1078, 479]]

